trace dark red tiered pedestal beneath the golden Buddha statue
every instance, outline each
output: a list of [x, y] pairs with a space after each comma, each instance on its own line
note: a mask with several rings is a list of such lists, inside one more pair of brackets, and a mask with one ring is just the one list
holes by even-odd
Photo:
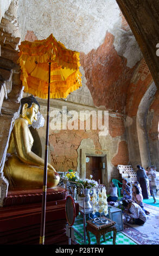
[[[68, 244], [65, 202], [62, 187], [47, 189], [45, 240], [49, 244]], [[76, 206], [78, 215], [79, 205]], [[0, 208], [0, 244], [39, 245], [42, 189], [9, 190]]]

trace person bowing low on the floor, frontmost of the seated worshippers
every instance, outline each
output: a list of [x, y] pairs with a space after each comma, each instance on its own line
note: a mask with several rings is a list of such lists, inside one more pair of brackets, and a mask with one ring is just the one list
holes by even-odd
[[132, 200], [123, 200], [124, 221], [131, 224], [143, 225], [147, 221], [147, 215], [138, 204]]

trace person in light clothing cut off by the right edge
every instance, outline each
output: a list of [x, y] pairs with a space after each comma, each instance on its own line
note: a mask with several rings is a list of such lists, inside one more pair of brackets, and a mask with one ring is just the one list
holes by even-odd
[[154, 199], [154, 204], [156, 204], [156, 189], [159, 186], [159, 180], [156, 179], [156, 167], [150, 166], [148, 169], [148, 179], [150, 182], [150, 192]]

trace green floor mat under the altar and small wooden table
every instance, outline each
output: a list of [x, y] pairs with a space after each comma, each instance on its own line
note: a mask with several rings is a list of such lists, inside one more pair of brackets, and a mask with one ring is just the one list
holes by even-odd
[[[78, 232], [83, 236], [84, 235], [84, 225], [81, 221], [76, 221], [73, 225], [74, 229], [78, 230]], [[77, 232], [74, 231], [75, 240], [80, 244], [84, 245], [84, 238], [81, 237]], [[103, 236], [100, 237], [100, 245], [113, 245], [113, 239], [110, 237], [111, 233], [105, 234], [106, 241], [103, 241]], [[96, 245], [96, 236], [94, 236], [90, 232], [91, 245]], [[87, 240], [88, 244], [88, 240]], [[134, 241], [132, 241], [129, 237], [125, 236], [123, 233], [117, 233], [116, 237], [116, 245], [137, 245]]]

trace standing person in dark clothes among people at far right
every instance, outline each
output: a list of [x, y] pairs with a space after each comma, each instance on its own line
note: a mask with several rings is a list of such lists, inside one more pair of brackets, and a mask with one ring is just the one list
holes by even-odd
[[143, 198], [149, 199], [149, 192], [148, 192], [149, 179], [148, 179], [147, 173], [143, 167], [138, 165], [137, 168], [138, 168], [137, 172], [136, 172], [137, 173], [137, 181], [141, 185]]

